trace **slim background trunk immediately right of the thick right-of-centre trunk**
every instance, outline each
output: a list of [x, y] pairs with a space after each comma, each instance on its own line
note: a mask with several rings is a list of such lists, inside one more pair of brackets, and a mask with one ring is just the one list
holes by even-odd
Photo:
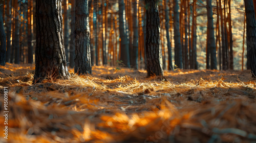
[[169, 36], [169, 6], [168, 0], [165, 0], [165, 30], [166, 30], [166, 39], [167, 39], [167, 49], [168, 49], [168, 70], [173, 70], [173, 61], [172, 61], [172, 45], [170, 43]]

